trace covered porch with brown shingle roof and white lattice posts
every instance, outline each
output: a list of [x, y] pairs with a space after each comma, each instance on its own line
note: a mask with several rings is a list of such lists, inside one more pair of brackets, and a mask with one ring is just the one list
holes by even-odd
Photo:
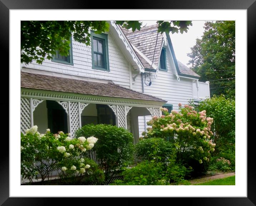
[[[40, 133], [49, 128], [74, 137], [75, 131], [85, 124], [111, 124], [132, 132], [136, 143], [138, 116], [160, 116], [160, 107], [165, 103], [113, 83], [57, 79], [39, 74], [21, 74], [21, 87], [23, 133], [37, 125]], [[98, 95], [92, 95], [94, 90]]]

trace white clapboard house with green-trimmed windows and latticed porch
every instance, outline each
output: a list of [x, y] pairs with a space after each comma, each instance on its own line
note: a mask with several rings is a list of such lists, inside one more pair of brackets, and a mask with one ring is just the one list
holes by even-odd
[[[210, 96], [209, 84], [176, 60], [171, 38], [157, 25], [131, 32], [109, 21], [109, 32], [92, 44], [72, 40], [68, 57], [21, 65], [21, 132], [70, 132], [84, 124], [112, 124], [134, 135], [134, 143], [160, 107]], [[149, 86], [150, 85], [150, 86]]]

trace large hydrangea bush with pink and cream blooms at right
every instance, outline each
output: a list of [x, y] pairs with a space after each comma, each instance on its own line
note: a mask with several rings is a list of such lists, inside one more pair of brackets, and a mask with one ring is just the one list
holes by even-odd
[[211, 140], [213, 119], [206, 116], [205, 110], [197, 112], [192, 106], [181, 106], [179, 104], [179, 112], [172, 110], [170, 114], [166, 108], [161, 108], [163, 115], [159, 118], [154, 116], [147, 122], [152, 128], [147, 128], [143, 135], [146, 139], [161, 137], [170, 141], [176, 148], [177, 162], [197, 170], [195, 161], [197, 165], [207, 165], [211, 152], [215, 150], [216, 144]]

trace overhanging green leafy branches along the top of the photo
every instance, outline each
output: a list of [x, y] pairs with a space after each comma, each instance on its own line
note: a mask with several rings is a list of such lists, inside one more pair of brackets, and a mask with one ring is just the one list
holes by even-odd
[[[116, 21], [126, 29], [140, 30], [141, 21]], [[158, 21], [158, 32], [187, 32], [191, 21]], [[21, 21], [21, 63], [36, 60], [42, 64], [44, 58], [52, 59], [55, 51], [63, 56], [69, 54], [70, 37], [90, 45], [90, 30], [101, 34], [109, 30], [107, 21]]]

